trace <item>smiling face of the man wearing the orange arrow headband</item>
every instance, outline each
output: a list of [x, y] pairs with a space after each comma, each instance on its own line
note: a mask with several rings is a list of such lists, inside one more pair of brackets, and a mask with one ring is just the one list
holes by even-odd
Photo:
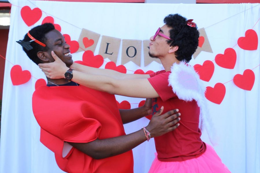
[[49, 48], [44, 55], [49, 59], [49, 62], [53, 62], [54, 59], [51, 56], [51, 51], [54, 53], [69, 67], [73, 64], [72, 55], [70, 54], [70, 46], [65, 42], [64, 36], [60, 31], [52, 30], [45, 35], [47, 38], [46, 46]]

